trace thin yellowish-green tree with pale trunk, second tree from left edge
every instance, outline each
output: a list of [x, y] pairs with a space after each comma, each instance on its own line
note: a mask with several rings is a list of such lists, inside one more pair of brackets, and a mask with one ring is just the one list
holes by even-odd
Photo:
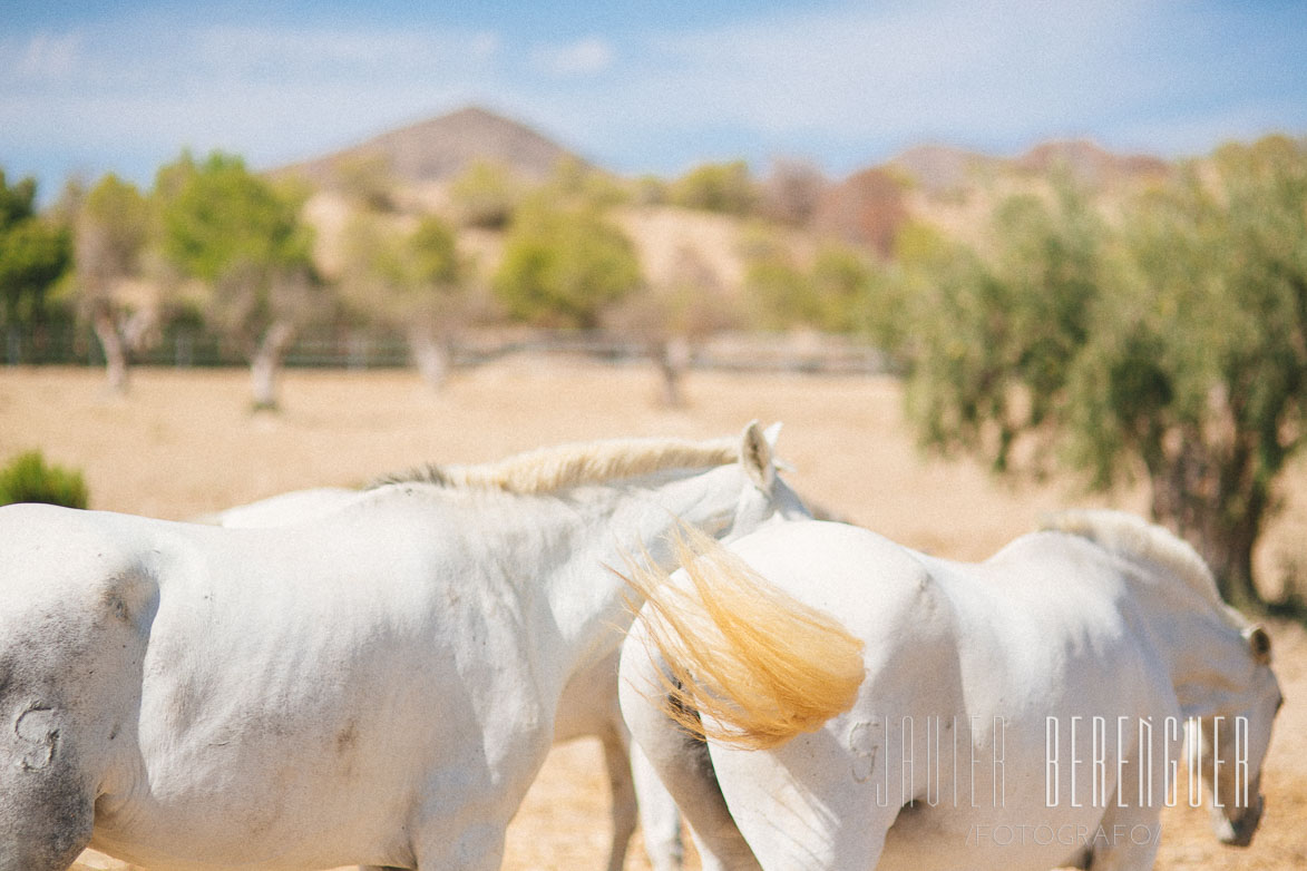
[[129, 353], [145, 343], [158, 313], [131, 286], [140, 285], [144, 273], [153, 231], [150, 202], [110, 174], [72, 208], [73, 295], [105, 350], [110, 389], [124, 393]]

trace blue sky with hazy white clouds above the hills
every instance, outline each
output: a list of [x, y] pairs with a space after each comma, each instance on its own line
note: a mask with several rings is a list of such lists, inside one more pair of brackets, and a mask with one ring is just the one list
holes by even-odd
[[174, 0], [0, 7], [0, 167], [267, 168], [478, 103], [620, 172], [833, 176], [921, 142], [1167, 157], [1307, 133], [1307, 3]]

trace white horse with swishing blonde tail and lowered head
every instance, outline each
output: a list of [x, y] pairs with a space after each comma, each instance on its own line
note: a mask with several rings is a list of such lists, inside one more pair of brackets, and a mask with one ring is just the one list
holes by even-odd
[[1187, 722], [1217, 834], [1252, 837], [1269, 639], [1166, 530], [1069, 513], [979, 564], [816, 521], [698, 550], [634, 573], [621, 704], [704, 867], [1150, 868]]

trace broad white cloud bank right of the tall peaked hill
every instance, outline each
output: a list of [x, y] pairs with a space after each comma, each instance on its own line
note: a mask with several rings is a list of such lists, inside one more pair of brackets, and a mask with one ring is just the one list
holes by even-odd
[[[1201, 119], [1273, 95], [1282, 125], [1307, 125], [1300, 93], [1257, 94], [1277, 64], [1304, 67], [1268, 40], [1265, 22], [1229, 44], [1197, 18], [1187, 4], [1145, 0], [850, 0], [652, 34], [623, 51], [622, 77], [603, 89], [538, 90], [575, 119], [578, 141], [664, 171], [775, 154], [847, 171], [921, 141], [1017, 153], [1086, 136], [1201, 153], [1214, 145]], [[1244, 71], [1238, 85], [1231, 65]], [[567, 104], [582, 97], [584, 111]]]

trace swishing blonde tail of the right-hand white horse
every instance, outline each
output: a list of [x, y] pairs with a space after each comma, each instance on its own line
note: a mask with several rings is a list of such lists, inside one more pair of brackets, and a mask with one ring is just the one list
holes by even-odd
[[[676, 541], [689, 584], [629, 562], [639, 620], [664, 661], [664, 713], [699, 738], [778, 747], [848, 710], [863, 642], [697, 530]], [[654, 656], [655, 650], [650, 650]]]

